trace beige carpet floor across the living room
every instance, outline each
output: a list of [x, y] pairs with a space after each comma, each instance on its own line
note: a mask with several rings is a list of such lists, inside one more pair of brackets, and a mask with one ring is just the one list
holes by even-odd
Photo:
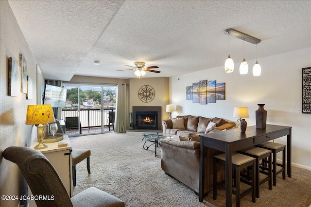
[[[86, 159], [76, 165], [73, 195], [96, 187], [125, 202], [126, 207], [223, 207], [225, 191], [212, 191], [202, 203], [194, 192], [161, 169], [161, 149], [142, 149], [141, 133], [105, 133], [70, 137], [72, 149], [90, 149], [90, 170]], [[148, 142], [147, 142], [148, 143]], [[235, 206], [232, 195], [232, 206]], [[292, 177], [277, 175], [277, 186], [260, 185], [260, 198], [252, 203], [251, 195], [241, 199], [242, 207], [309, 207], [311, 206], [311, 171], [292, 167]]]

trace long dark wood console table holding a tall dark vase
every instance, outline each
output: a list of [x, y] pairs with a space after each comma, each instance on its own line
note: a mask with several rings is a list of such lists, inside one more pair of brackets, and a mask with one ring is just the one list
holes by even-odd
[[226, 207], [232, 205], [232, 152], [264, 143], [279, 137], [287, 136], [287, 175], [292, 177], [292, 127], [267, 125], [265, 129], [258, 129], [256, 126], [247, 127], [245, 133], [240, 132], [240, 128], [220, 131], [217, 133], [200, 135], [200, 183], [199, 183], [199, 201], [204, 199], [204, 176], [206, 150], [208, 148], [217, 149], [225, 152], [225, 203]]

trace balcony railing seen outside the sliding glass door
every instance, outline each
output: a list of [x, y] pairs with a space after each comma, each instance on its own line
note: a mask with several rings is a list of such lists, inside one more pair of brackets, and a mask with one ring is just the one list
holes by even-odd
[[[109, 126], [109, 111], [115, 111], [115, 109], [103, 109], [104, 126]], [[73, 116], [80, 116], [81, 128], [102, 126], [101, 109], [80, 109], [80, 113], [77, 110], [72, 109], [62, 110], [62, 119], [66, 120], [66, 117]]]

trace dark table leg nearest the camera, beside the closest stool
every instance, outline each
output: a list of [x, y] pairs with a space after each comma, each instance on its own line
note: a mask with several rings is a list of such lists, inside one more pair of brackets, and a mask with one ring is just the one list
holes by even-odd
[[225, 145], [225, 206], [232, 206], [232, 149], [230, 144]]

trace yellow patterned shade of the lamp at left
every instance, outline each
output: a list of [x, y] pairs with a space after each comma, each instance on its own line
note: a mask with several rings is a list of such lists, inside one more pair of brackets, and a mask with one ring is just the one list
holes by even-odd
[[26, 124], [38, 125], [55, 122], [52, 105], [28, 105]]

